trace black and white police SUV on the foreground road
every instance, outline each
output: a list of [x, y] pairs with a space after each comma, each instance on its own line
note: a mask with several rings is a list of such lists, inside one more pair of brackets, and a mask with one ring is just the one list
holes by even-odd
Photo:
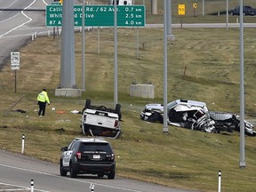
[[60, 175], [75, 178], [77, 174], [97, 174], [115, 179], [116, 160], [107, 140], [97, 138], [76, 138], [61, 148]]

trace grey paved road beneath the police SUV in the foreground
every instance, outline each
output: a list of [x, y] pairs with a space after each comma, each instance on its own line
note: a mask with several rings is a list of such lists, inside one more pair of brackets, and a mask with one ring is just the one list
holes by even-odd
[[[0, 183], [13, 186], [30, 187], [34, 180], [36, 191], [44, 192], [84, 192], [91, 191], [94, 184], [95, 192], [189, 192], [192, 190], [168, 188], [138, 180], [128, 180], [116, 177], [108, 180], [107, 177], [97, 178], [94, 175], [81, 175], [76, 179], [61, 177], [59, 164], [40, 161], [33, 157], [23, 156], [0, 150]], [[0, 188], [1, 189], [1, 188]]]

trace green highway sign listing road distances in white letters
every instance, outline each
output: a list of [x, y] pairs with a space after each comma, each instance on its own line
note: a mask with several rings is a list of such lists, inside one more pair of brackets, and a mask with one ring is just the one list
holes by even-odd
[[[144, 5], [117, 5], [118, 27], [144, 27]], [[74, 25], [82, 26], [83, 6], [74, 5]], [[46, 6], [46, 27], [62, 26], [62, 5]], [[84, 5], [84, 26], [114, 27], [114, 5]]]

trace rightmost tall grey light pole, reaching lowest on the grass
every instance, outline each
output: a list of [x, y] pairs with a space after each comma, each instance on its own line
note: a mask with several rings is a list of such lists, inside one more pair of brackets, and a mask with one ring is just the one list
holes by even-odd
[[245, 167], [244, 157], [244, 14], [240, 0], [240, 168]]

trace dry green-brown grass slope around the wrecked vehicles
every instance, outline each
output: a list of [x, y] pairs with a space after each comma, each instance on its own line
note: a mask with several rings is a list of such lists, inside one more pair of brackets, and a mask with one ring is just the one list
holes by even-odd
[[[220, 18], [211, 17], [212, 21]], [[100, 53], [97, 53], [97, 30], [86, 33], [85, 92], [81, 98], [54, 96], [60, 81], [60, 49], [52, 36], [39, 37], [20, 49], [17, 92], [14, 92], [14, 73], [10, 61], [7, 62], [0, 73], [1, 148], [20, 153], [21, 136], [25, 134], [26, 155], [59, 162], [60, 148], [83, 136], [81, 116], [70, 111], [82, 110], [85, 99], [91, 99], [92, 104], [113, 107], [113, 34], [111, 28], [100, 29]], [[140, 120], [145, 104], [163, 102], [164, 50], [163, 28], [140, 28], [139, 34], [140, 58], [137, 59], [136, 28], [118, 28], [118, 102], [122, 105], [124, 134], [120, 140], [109, 140], [116, 153], [117, 175], [178, 188], [216, 191], [221, 171], [223, 191], [254, 191], [255, 138], [245, 137], [246, 168], [240, 169], [237, 132], [210, 134], [169, 126], [169, 134], [163, 134], [163, 124]], [[168, 42], [168, 100], [202, 100], [211, 110], [239, 114], [239, 29], [173, 28], [173, 34], [175, 41]], [[255, 44], [255, 30], [244, 28], [246, 119], [256, 116]], [[81, 48], [81, 34], [77, 33], [78, 87], [82, 79]], [[130, 97], [132, 82], [154, 84], [155, 99]], [[46, 116], [39, 118], [36, 96], [42, 88], [49, 92], [51, 106], [47, 107]], [[56, 110], [51, 110], [52, 107]], [[15, 112], [19, 108], [28, 113]]]

